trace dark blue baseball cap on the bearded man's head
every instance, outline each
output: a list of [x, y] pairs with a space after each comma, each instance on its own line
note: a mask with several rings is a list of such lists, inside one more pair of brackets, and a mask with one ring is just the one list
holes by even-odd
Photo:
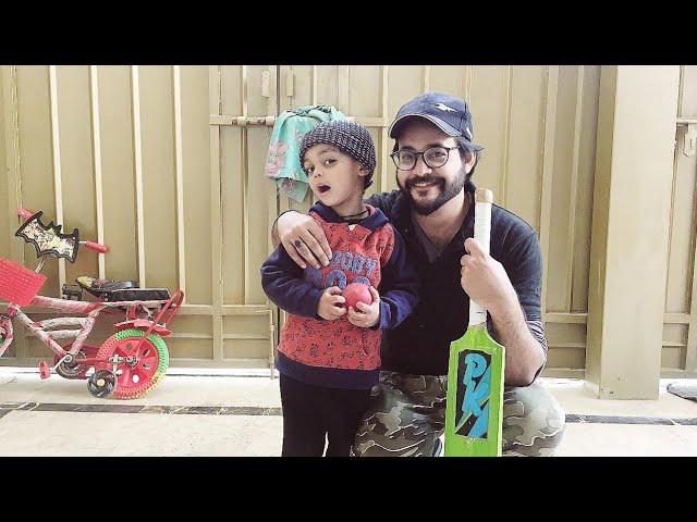
[[411, 99], [402, 105], [390, 125], [390, 137], [396, 139], [403, 123], [414, 116], [428, 120], [448, 136], [462, 136], [472, 142], [475, 150], [484, 149], [473, 141], [472, 113], [462, 98], [443, 92], [426, 92]]

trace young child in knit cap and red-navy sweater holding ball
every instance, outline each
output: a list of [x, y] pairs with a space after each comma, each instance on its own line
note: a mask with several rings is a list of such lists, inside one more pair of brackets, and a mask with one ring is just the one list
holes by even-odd
[[[376, 166], [368, 130], [322, 123], [303, 137], [301, 164], [319, 200], [310, 215], [333, 252], [328, 266], [305, 270], [281, 246], [261, 265], [269, 299], [289, 312], [277, 368], [283, 407], [282, 456], [348, 456], [377, 384], [381, 330], [415, 308], [418, 276], [384, 214], [363, 202]], [[344, 307], [351, 283], [369, 286], [372, 303]], [[380, 288], [378, 293], [377, 288]]]

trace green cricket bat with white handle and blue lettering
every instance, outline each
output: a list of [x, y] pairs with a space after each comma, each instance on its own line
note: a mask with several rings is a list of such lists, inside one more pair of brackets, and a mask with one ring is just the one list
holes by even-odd
[[[489, 253], [491, 202], [475, 192], [475, 239]], [[504, 348], [487, 330], [487, 310], [469, 300], [469, 325], [450, 344], [445, 398], [445, 457], [500, 457]]]

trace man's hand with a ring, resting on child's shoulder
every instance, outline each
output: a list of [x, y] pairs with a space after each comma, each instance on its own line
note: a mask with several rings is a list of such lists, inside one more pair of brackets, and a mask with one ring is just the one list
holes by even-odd
[[299, 212], [286, 212], [277, 221], [279, 238], [288, 254], [301, 269], [306, 262], [316, 269], [329, 264], [331, 248], [316, 220]]

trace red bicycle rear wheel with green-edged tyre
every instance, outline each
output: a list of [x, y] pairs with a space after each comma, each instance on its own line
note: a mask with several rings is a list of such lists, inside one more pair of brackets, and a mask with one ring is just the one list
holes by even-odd
[[138, 358], [134, 366], [125, 362], [117, 366], [117, 387], [111, 394], [117, 399], [143, 397], [164, 377], [170, 363], [167, 345], [158, 334], [150, 334], [136, 351], [144, 335], [145, 332], [140, 330], [123, 330], [113, 334], [99, 347], [97, 352], [99, 358], [109, 358], [114, 355]]

